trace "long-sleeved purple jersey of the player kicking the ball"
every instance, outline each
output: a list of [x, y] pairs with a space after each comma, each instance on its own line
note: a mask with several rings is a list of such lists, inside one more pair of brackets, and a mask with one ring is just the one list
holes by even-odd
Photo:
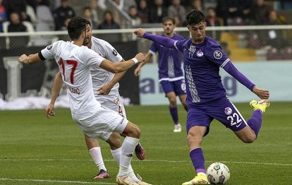
[[202, 44], [193, 44], [192, 39], [172, 40], [145, 32], [143, 37], [176, 48], [183, 53], [185, 85], [187, 92], [186, 105], [200, 105], [220, 97], [226, 97], [226, 90], [221, 83], [219, 68], [236, 78], [246, 88], [253, 90], [255, 84], [246, 78], [224, 54], [220, 45], [211, 37], [205, 38]]

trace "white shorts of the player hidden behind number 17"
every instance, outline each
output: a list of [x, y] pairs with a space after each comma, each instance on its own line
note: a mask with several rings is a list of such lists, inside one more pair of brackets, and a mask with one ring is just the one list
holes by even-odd
[[118, 93], [112, 95], [96, 95], [95, 98], [105, 109], [118, 112], [118, 114], [121, 114], [124, 118], [127, 118], [125, 107], [123, 107], [123, 101]]

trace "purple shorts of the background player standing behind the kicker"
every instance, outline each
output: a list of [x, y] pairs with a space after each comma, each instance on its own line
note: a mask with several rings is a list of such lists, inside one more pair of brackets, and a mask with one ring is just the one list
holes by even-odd
[[163, 80], [160, 82], [160, 85], [162, 86], [162, 89], [164, 90], [165, 94], [172, 91], [174, 91], [174, 93], [176, 93], [177, 96], [186, 94], [185, 79], [176, 81]]

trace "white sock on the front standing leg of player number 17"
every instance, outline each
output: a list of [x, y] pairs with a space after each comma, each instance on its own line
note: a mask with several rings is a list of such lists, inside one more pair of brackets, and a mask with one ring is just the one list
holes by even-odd
[[134, 150], [138, 141], [138, 138], [131, 138], [129, 136], [126, 136], [126, 138], [123, 140], [118, 177], [124, 177], [128, 175], [128, 168], [130, 167], [130, 162], [132, 161]]

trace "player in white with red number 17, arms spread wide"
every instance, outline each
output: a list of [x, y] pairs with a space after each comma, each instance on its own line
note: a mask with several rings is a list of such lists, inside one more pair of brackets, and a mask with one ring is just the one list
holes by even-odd
[[[63, 82], [66, 84], [72, 118], [87, 136], [99, 137], [108, 141], [113, 131], [127, 133], [121, 147], [116, 183], [118, 185], [139, 185], [128, 176], [128, 168], [140, 138], [140, 129], [117, 112], [104, 109], [95, 99], [92, 92], [90, 68], [99, 66], [112, 73], [119, 73], [143, 61], [145, 57], [143, 54], [137, 54], [135, 58], [121, 63], [113, 63], [104, 59], [83, 46], [87, 37], [87, 25], [89, 25], [89, 21], [85, 18], [72, 18], [68, 23], [68, 35], [73, 42], [59, 40], [37, 54], [29, 56], [23, 54], [18, 60], [23, 64], [34, 64], [45, 59], [56, 60]], [[54, 107], [51, 107], [48, 110], [49, 115], [54, 115], [53, 109]]]

